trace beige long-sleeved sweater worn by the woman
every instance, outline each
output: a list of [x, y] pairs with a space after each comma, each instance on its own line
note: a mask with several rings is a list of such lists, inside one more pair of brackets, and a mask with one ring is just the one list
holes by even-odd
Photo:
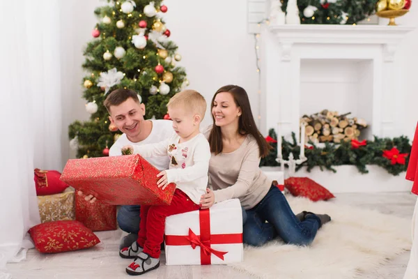
[[[208, 137], [208, 132], [205, 133]], [[252, 209], [270, 190], [270, 181], [261, 171], [258, 144], [247, 135], [241, 146], [231, 153], [212, 153], [209, 177], [215, 202], [238, 198], [241, 206]]]

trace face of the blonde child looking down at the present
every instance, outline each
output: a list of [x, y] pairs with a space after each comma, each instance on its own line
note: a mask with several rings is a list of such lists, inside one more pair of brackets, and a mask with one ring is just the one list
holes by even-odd
[[199, 131], [200, 116], [187, 111], [183, 106], [169, 107], [169, 116], [173, 120], [173, 129], [179, 137], [189, 140]]

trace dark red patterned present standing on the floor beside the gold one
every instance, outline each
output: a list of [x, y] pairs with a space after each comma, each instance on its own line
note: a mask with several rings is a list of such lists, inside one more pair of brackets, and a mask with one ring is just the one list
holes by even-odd
[[83, 223], [93, 232], [117, 229], [116, 205], [105, 204], [100, 200], [93, 204], [83, 196], [75, 196], [75, 220]]

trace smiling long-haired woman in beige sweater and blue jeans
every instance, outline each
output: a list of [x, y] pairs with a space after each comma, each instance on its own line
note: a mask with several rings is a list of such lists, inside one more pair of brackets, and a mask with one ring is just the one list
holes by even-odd
[[247, 92], [240, 86], [223, 86], [213, 96], [211, 109], [215, 124], [206, 136], [213, 190], [201, 197], [202, 208], [238, 198], [247, 215], [245, 243], [261, 246], [280, 236], [286, 243], [309, 245], [331, 218], [307, 211], [295, 216], [283, 193], [258, 167], [271, 147], [256, 128]]

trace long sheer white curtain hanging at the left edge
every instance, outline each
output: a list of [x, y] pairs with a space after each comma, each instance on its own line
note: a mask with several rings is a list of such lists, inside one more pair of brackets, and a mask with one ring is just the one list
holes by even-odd
[[0, 278], [33, 247], [33, 168], [61, 169], [59, 0], [0, 1]]

